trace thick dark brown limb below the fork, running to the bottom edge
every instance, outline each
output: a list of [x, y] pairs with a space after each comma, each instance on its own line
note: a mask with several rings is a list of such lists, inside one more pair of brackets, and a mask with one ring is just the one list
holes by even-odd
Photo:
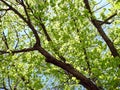
[[86, 78], [82, 73], [80, 73], [70, 64], [57, 60], [56, 58], [51, 56], [46, 50], [44, 50], [42, 47], [38, 47], [37, 49], [43, 56], [46, 57], [46, 62], [52, 63], [69, 72], [78, 80], [80, 80], [80, 84], [83, 85], [88, 90], [99, 90], [99, 88], [90, 79]]

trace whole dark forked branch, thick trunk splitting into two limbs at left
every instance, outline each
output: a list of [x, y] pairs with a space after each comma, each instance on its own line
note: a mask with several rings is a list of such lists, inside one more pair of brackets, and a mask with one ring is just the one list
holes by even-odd
[[[28, 26], [32, 29], [37, 44], [34, 45], [33, 48], [27, 48], [27, 49], [22, 49], [22, 50], [15, 50], [15, 51], [0, 51], [0, 54], [4, 54], [4, 53], [20, 53], [20, 52], [29, 52], [29, 51], [34, 51], [34, 50], [38, 50], [43, 56], [46, 57], [46, 62], [48, 63], [52, 63], [64, 70], [66, 70], [67, 72], [69, 72], [70, 74], [72, 74], [74, 77], [76, 77], [78, 80], [80, 80], [80, 84], [83, 85], [84, 87], [86, 87], [88, 90], [99, 90], [99, 88], [87, 77], [85, 77], [82, 73], [80, 73], [78, 70], [76, 70], [72, 65], [70, 65], [69, 63], [65, 63], [62, 62], [58, 59], [56, 59], [55, 57], [53, 57], [51, 54], [49, 54], [44, 48], [42, 48], [39, 43], [39, 36], [37, 34], [37, 31], [35, 30], [34, 26], [32, 25], [31, 22], [29, 22], [28, 20], [26, 20], [26, 18], [23, 17], [23, 15], [21, 15], [15, 8], [13, 8], [11, 5], [9, 5], [8, 3], [6, 3], [4, 0], [1, 0], [3, 3], [5, 3], [8, 7], [10, 7], [10, 9], [12, 11], [14, 11], [21, 19], [23, 19], [24, 22], [26, 22], [28, 24]], [[86, 0], [85, 0], [86, 1]], [[89, 7], [89, 6], [88, 6]], [[90, 7], [89, 7], [90, 8]], [[91, 10], [89, 10], [89, 12], [91, 13]]]

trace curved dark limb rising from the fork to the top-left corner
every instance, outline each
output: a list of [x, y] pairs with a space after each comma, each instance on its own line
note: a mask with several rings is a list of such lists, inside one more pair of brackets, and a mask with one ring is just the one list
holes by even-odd
[[[4, 0], [1, 0], [1, 2], [3, 2], [6, 6], [8, 6], [10, 8], [10, 10], [12, 10], [15, 14], [17, 14], [24, 22], [27, 23], [27, 25], [29, 26], [29, 28], [32, 30], [34, 36], [35, 36], [35, 39], [36, 39], [36, 44], [38, 44], [40, 46], [40, 38], [38, 36], [38, 33], [37, 31], [35, 30], [34, 26], [32, 25], [32, 23], [30, 22], [30, 20], [26, 19], [20, 12], [18, 12], [14, 7], [12, 7], [10, 4], [8, 4], [6, 1]], [[26, 7], [24, 7], [26, 8]], [[26, 9], [25, 9], [25, 12]]]

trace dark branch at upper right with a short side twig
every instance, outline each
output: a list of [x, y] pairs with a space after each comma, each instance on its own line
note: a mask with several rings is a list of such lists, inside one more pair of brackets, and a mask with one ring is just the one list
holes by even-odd
[[91, 8], [89, 5], [89, 1], [88, 0], [84, 0], [84, 4], [86, 9], [89, 11], [89, 13], [91, 14], [91, 22], [93, 23], [93, 25], [96, 27], [96, 29], [98, 30], [98, 32], [100, 33], [100, 35], [102, 36], [102, 38], [104, 39], [104, 41], [106, 42], [106, 44], [108, 45], [112, 55], [114, 57], [119, 57], [119, 53], [117, 51], [117, 49], [115, 48], [113, 42], [109, 39], [109, 37], [105, 34], [105, 32], [103, 31], [103, 28], [101, 25], [105, 24], [105, 22], [108, 22], [108, 20], [110, 20], [112, 17], [116, 16], [117, 14], [113, 14], [112, 16], [108, 17], [105, 21], [103, 21], [102, 23], [99, 23], [99, 20], [96, 20], [92, 17], [92, 12], [91, 12]]

